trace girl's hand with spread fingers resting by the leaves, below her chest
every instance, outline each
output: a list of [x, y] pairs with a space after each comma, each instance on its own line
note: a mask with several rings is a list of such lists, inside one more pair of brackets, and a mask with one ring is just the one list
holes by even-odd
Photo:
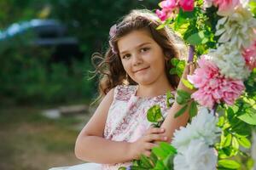
[[158, 146], [158, 144], [154, 144], [154, 142], [167, 141], [167, 137], [163, 135], [163, 133], [165, 133], [164, 128], [150, 127], [143, 137], [131, 143], [132, 158], [138, 160], [142, 154], [150, 156], [151, 149]]

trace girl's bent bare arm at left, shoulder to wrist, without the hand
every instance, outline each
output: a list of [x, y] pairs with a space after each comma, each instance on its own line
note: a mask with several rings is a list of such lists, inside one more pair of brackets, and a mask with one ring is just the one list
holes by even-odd
[[115, 142], [103, 138], [108, 110], [113, 102], [113, 89], [102, 99], [95, 114], [79, 133], [75, 155], [83, 161], [117, 163], [131, 161], [130, 143]]

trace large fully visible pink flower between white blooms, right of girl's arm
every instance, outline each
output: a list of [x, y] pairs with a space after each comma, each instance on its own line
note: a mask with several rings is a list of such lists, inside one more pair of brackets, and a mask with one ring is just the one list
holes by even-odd
[[188, 76], [189, 82], [198, 88], [191, 97], [208, 108], [220, 102], [233, 105], [245, 88], [243, 82], [225, 78], [220, 74], [218, 66], [204, 57], [198, 60], [198, 65], [195, 74]]

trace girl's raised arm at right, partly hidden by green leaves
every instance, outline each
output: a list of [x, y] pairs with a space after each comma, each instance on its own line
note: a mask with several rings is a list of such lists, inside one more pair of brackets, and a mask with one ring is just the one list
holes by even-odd
[[[193, 73], [195, 71], [195, 65], [186, 65], [185, 70], [183, 71], [183, 79], [187, 79], [187, 75]], [[183, 85], [183, 82], [180, 81], [178, 84], [177, 89], [183, 89], [184, 91], [187, 91], [189, 93], [193, 93], [194, 91], [185, 87]], [[166, 129], [165, 135], [168, 137], [168, 141], [172, 141], [173, 133], [176, 129], [179, 129], [179, 127], [184, 127], [187, 122], [189, 121], [189, 110], [185, 111], [182, 116], [174, 117], [174, 115], [179, 111], [183, 105], [178, 105], [176, 100], [174, 104], [172, 105], [171, 109], [168, 111], [168, 114], [166, 116], [166, 120], [161, 125], [162, 128]]]

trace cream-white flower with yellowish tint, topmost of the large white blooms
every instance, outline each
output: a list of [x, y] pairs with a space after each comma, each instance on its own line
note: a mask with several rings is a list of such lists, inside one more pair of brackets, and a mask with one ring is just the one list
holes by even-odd
[[236, 49], [249, 47], [256, 34], [256, 19], [247, 8], [236, 8], [235, 13], [218, 20], [216, 36], [220, 36], [218, 42], [230, 42]]

